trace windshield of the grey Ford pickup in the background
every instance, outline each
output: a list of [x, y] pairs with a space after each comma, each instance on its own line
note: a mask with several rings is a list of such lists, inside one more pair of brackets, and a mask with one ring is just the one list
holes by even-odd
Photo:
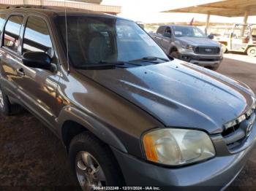
[[195, 26], [173, 26], [173, 31], [176, 37], [206, 38], [206, 34]]

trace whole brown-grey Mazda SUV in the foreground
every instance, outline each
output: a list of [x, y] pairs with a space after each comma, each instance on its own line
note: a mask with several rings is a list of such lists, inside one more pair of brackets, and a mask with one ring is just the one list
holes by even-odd
[[220, 190], [244, 167], [256, 141], [248, 86], [169, 59], [131, 20], [29, 6], [0, 17], [0, 111], [21, 105], [44, 122], [83, 190]]

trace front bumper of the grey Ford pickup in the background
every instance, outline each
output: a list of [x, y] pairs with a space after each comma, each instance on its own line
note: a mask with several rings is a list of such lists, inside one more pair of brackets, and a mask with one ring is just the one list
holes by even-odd
[[217, 67], [222, 62], [223, 57], [221, 55], [184, 55], [180, 54], [179, 59], [194, 63], [199, 66], [211, 66]]

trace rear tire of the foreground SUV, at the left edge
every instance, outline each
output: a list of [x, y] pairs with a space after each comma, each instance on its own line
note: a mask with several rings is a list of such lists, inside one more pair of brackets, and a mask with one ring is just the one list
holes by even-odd
[[8, 96], [0, 86], [0, 112], [6, 115], [18, 114], [23, 109], [18, 104], [11, 104]]

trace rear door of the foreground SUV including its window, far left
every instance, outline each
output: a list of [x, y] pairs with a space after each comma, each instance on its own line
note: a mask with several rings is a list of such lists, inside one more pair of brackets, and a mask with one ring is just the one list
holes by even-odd
[[18, 100], [17, 87], [22, 79], [18, 74], [18, 57], [20, 46], [20, 29], [22, 28], [23, 15], [12, 14], [2, 28], [1, 34], [1, 86], [10, 98]]

